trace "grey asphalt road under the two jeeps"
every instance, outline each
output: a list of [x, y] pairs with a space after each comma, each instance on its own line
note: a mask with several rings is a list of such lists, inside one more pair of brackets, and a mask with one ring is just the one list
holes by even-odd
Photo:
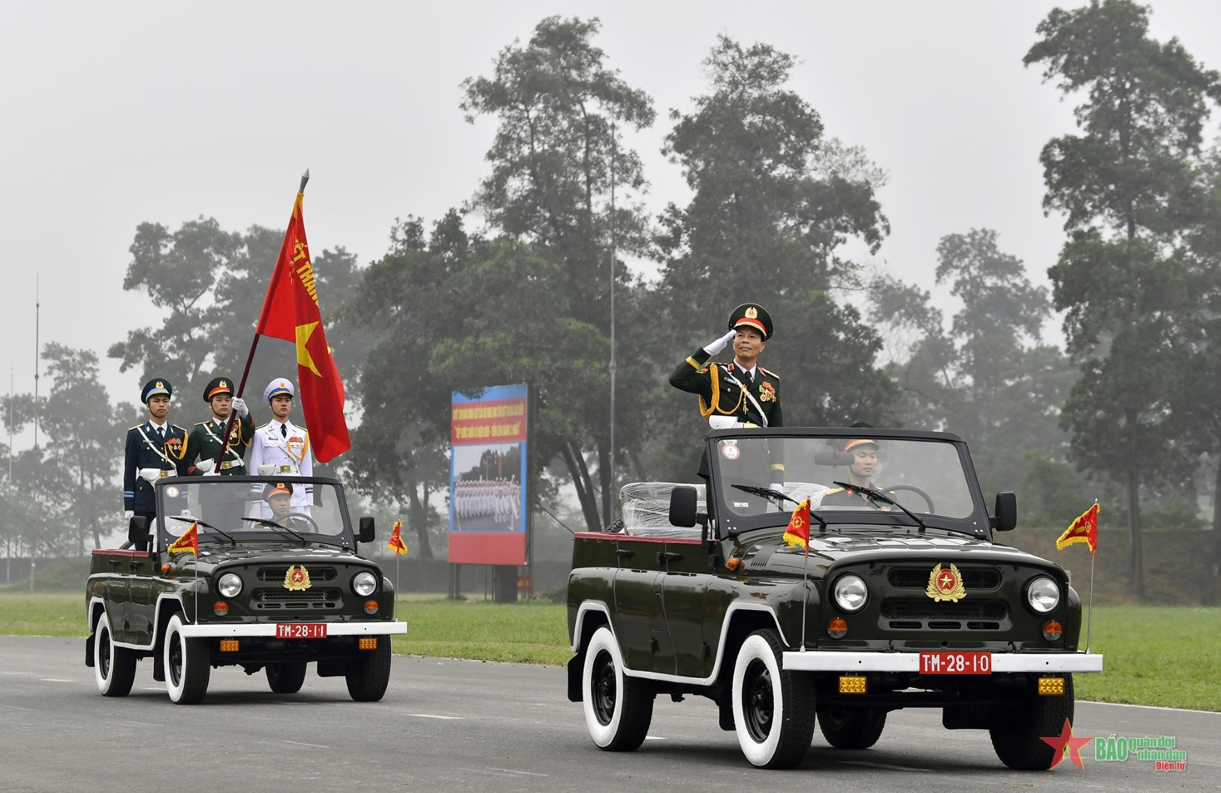
[[375, 704], [313, 671], [272, 694], [261, 672], [223, 668], [201, 705], [179, 706], [148, 661], [129, 696], [100, 696], [83, 657], [83, 639], [0, 637], [0, 791], [1221, 789], [1221, 714], [1077, 704], [1077, 737], [1175, 736], [1184, 771], [1100, 762], [1093, 744], [1084, 770], [1010, 771], [985, 732], [943, 729], [935, 710], [891, 714], [864, 751], [816, 731], [801, 769], [759, 771], [703, 699], [659, 698], [640, 750], [600, 751], [554, 667], [396, 657]]

